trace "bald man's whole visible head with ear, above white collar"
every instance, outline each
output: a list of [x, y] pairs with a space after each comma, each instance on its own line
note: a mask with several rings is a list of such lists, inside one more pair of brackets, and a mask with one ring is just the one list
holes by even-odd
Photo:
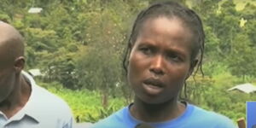
[[24, 44], [20, 33], [0, 21], [0, 107], [12, 93], [18, 91], [24, 65]]

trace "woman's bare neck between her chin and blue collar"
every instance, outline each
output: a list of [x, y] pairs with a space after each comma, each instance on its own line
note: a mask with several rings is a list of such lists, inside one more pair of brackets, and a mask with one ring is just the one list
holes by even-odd
[[177, 102], [176, 99], [160, 104], [148, 104], [136, 97], [130, 112], [136, 119], [154, 123], [175, 119], [183, 114], [185, 108], [185, 104]]

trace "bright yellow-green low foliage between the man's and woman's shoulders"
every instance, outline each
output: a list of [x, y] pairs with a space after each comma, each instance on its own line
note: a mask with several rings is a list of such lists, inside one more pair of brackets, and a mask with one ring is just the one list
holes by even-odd
[[47, 90], [61, 96], [72, 108], [73, 116], [77, 122], [96, 122], [99, 119], [106, 118], [111, 113], [125, 106], [125, 99], [110, 98], [108, 108], [102, 107], [101, 95], [97, 91], [90, 90], [69, 90], [54, 83], [38, 83]]

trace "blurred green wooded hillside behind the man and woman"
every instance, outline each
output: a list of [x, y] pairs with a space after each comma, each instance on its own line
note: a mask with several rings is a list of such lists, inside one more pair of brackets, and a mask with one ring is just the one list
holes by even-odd
[[[122, 59], [133, 20], [153, 0], [0, 0], [0, 20], [26, 41], [26, 72], [61, 96], [77, 122], [96, 122], [132, 102]], [[236, 121], [256, 100], [256, 0], [180, 0], [201, 15], [204, 77], [189, 101]], [[182, 94], [182, 96], [185, 96]]]

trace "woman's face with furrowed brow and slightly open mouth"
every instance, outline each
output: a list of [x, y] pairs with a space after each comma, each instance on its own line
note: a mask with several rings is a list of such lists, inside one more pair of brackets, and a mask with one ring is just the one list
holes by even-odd
[[177, 18], [143, 23], [128, 65], [128, 81], [138, 99], [157, 104], [177, 98], [193, 68], [191, 40], [191, 32]]

